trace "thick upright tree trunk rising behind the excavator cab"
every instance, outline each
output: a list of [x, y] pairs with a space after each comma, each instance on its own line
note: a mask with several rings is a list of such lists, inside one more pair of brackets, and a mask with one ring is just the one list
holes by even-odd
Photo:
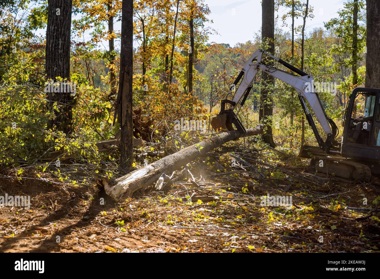
[[380, 88], [380, 2], [367, 0], [366, 87]]

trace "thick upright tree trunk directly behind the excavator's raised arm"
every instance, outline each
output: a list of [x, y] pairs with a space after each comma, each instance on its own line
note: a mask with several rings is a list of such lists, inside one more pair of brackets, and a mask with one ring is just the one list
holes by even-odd
[[[274, 0], [263, 0], [262, 7], [262, 24], [261, 38], [263, 42], [269, 44], [267, 52], [274, 55]], [[273, 86], [274, 77], [266, 73], [262, 73], [263, 86]], [[263, 135], [264, 142], [271, 147], [275, 147], [272, 136], [272, 115], [273, 115], [273, 97], [272, 90], [262, 89], [260, 95], [260, 120], [266, 125], [266, 130]]]

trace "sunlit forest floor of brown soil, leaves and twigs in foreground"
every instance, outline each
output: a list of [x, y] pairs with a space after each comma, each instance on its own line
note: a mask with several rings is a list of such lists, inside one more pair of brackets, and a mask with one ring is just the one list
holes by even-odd
[[[207, 167], [201, 164], [200, 173]], [[165, 193], [149, 188], [123, 204], [96, 187], [0, 177], [0, 194], [31, 197], [29, 209], [0, 207], [0, 251], [378, 251], [378, 217], [359, 221], [369, 212], [348, 208], [373, 207], [380, 195], [377, 181], [320, 184], [308, 168], [282, 168], [291, 174], [272, 172], [266, 179], [244, 170], [203, 172], [199, 179], [194, 168], [198, 185], [185, 178]], [[293, 206], [262, 206], [260, 197], [267, 193], [291, 195]]]

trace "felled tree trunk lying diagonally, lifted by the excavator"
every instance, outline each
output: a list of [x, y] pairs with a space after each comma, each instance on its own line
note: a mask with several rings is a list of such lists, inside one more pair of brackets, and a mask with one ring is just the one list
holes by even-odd
[[[257, 125], [253, 129], [248, 129], [244, 136], [259, 135], [263, 133], [263, 128], [263, 125]], [[157, 182], [161, 174], [170, 174], [196, 158], [206, 155], [212, 149], [241, 136], [243, 136], [242, 133], [236, 130], [217, 134], [123, 177], [111, 180], [110, 182], [102, 179], [101, 183], [105, 188], [106, 194], [111, 196], [115, 201], [122, 201], [127, 197], [131, 197], [137, 190], [146, 188]]]

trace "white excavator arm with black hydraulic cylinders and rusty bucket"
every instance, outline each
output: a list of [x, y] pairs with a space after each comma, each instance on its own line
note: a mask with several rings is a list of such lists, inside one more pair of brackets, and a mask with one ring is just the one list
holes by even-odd
[[[287, 67], [291, 71], [295, 72], [299, 76], [290, 74], [288, 72], [282, 71], [275, 67], [268, 66], [262, 62], [263, 55], [268, 55], [278, 63]], [[315, 138], [317, 139], [318, 145], [321, 149], [327, 151], [333, 146], [333, 142], [335, 137], [337, 136], [337, 126], [329, 118], [326, 114], [325, 109], [321, 103], [321, 100], [318, 96], [318, 93], [315, 92], [315, 87], [313, 86], [313, 76], [308, 75], [305, 72], [297, 69], [296, 67], [288, 64], [287, 62], [271, 55], [268, 52], [265, 52], [262, 49], [256, 50], [255, 53], [251, 56], [251, 58], [245, 63], [243, 69], [237, 76], [234, 83], [231, 85], [230, 92], [228, 92], [227, 96], [232, 94], [234, 88], [236, 88], [237, 84], [240, 82], [239, 86], [236, 89], [236, 93], [232, 100], [224, 99], [222, 100], [221, 110], [218, 116], [212, 119], [211, 124], [215, 130], [233, 130], [232, 124], [235, 125], [236, 129], [245, 132], [245, 129], [242, 123], [237, 118], [234, 113], [234, 108], [238, 105], [241, 100], [241, 106], [244, 105], [245, 100], [247, 99], [249, 92], [252, 88], [253, 79], [256, 77], [258, 71], [266, 72], [269, 75], [272, 75], [279, 80], [291, 85], [297, 92], [299, 101], [301, 103], [301, 107], [305, 113], [307, 122], [313, 130]], [[226, 96], [226, 97], [227, 97]], [[317, 127], [315, 126], [315, 122], [311, 113], [309, 112], [305, 100], [309, 103], [312, 108], [315, 117], [318, 119], [318, 122], [321, 124], [323, 131], [326, 133], [326, 141], [324, 141]], [[226, 108], [226, 105], [229, 105], [229, 108]]]

